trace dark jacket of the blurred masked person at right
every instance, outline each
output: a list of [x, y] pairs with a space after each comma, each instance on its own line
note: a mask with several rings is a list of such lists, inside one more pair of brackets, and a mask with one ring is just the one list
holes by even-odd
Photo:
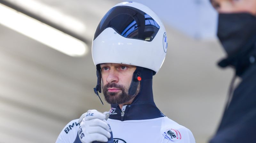
[[248, 65], [240, 77], [210, 143], [256, 143], [256, 64]]

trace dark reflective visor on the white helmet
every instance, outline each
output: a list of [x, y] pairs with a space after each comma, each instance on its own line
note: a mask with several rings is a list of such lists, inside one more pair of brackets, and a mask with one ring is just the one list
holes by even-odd
[[110, 9], [101, 19], [93, 40], [108, 27], [125, 38], [143, 41], [152, 41], [160, 28], [147, 13], [129, 6], [116, 6]]

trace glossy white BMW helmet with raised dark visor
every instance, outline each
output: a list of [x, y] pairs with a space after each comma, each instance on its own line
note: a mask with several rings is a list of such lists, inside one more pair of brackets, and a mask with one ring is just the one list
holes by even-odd
[[163, 23], [147, 6], [124, 2], [116, 4], [101, 19], [92, 41], [92, 59], [101, 63], [130, 64], [161, 68], [167, 52]]

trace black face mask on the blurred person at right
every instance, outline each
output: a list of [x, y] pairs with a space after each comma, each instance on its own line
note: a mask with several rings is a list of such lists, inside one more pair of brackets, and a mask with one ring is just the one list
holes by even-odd
[[232, 56], [256, 36], [256, 17], [249, 13], [221, 13], [217, 35], [228, 56]]

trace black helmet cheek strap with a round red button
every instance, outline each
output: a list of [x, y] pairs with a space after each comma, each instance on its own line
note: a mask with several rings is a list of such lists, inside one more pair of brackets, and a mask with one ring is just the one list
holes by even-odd
[[137, 66], [136, 70], [133, 72], [132, 82], [131, 82], [131, 85], [130, 85], [130, 88], [128, 91], [129, 95], [134, 95], [136, 93], [139, 83], [143, 78], [143, 77], [141, 77], [142, 70], [143, 70], [142, 67]]

